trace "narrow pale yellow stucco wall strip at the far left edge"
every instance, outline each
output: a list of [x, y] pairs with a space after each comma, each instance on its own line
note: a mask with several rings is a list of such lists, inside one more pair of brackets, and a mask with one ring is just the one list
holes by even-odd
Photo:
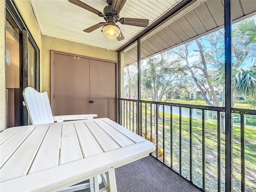
[[5, 90], [5, 1], [0, 0], [0, 132], [6, 125]]

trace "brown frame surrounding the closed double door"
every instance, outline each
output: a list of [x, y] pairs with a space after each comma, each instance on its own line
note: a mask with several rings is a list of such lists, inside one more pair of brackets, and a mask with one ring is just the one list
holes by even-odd
[[89, 57], [84, 55], [78, 55], [73, 53], [67, 53], [67, 52], [61, 52], [56, 50], [51, 50], [51, 108], [52, 108], [52, 114], [54, 114], [54, 54], [61, 54], [66, 56], [74, 56], [74, 57], [80, 57], [90, 60], [96, 60], [96, 61], [103, 61], [103, 62], [109, 62], [116, 64], [116, 122], [118, 121], [118, 113], [119, 113], [119, 102], [118, 102], [118, 92], [119, 92], [119, 62], [118, 61], [112, 61], [112, 60], [106, 60], [101, 58], [95, 58], [95, 57]]

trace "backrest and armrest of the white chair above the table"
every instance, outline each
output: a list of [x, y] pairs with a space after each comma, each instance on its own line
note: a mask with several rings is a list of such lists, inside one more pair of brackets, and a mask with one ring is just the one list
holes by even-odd
[[47, 92], [37, 92], [32, 87], [23, 90], [24, 106], [28, 109], [28, 114], [33, 125], [63, 122], [65, 120], [93, 119], [97, 114], [82, 115], [60, 115], [52, 116], [52, 110]]

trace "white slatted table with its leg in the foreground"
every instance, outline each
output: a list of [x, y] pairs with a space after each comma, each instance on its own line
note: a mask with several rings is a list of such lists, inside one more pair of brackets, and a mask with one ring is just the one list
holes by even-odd
[[58, 191], [155, 150], [152, 142], [108, 118], [8, 128], [0, 133], [1, 191]]

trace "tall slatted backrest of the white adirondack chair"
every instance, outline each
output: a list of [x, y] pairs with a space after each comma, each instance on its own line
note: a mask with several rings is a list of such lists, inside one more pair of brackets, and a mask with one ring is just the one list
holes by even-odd
[[23, 96], [33, 125], [54, 122], [47, 92], [40, 93], [26, 87]]

